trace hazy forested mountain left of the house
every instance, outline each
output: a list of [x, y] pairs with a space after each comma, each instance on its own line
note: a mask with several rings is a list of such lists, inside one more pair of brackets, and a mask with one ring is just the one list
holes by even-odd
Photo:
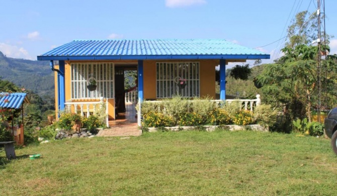
[[41, 97], [54, 97], [54, 73], [49, 61], [9, 58], [0, 51], [0, 77]]

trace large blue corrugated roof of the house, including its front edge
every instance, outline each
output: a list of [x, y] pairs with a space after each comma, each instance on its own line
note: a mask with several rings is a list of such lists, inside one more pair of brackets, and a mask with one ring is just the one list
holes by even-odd
[[269, 59], [224, 39], [74, 40], [38, 60]]

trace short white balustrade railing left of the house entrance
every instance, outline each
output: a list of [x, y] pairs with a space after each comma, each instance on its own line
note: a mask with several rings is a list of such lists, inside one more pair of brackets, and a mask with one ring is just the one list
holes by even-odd
[[[98, 102], [73, 102], [73, 101], [67, 101], [65, 102], [65, 110], [66, 112], [70, 113], [73, 111], [74, 113], [80, 114], [80, 116], [84, 117], [86, 113], [86, 117], [90, 117], [90, 113], [96, 114], [96, 108], [99, 106], [100, 109], [102, 109], [103, 105], [103, 97], [100, 97], [100, 101]], [[85, 107], [86, 106], [86, 107]], [[79, 107], [79, 108], [78, 108]], [[107, 107], [108, 112], [108, 107]]]

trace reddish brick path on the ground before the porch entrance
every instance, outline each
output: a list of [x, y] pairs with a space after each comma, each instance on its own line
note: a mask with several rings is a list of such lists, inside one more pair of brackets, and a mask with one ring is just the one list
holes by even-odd
[[137, 123], [132, 124], [116, 124], [110, 129], [101, 130], [98, 134], [100, 137], [123, 137], [123, 136], [140, 136], [142, 131], [138, 129]]

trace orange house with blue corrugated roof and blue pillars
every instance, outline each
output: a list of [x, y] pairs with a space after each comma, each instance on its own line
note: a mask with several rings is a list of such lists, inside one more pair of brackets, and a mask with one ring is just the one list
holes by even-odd
[[[124, 102], [123, 70], [137, 70], [139, 101], [174, 94], [215, 99], [215, 67], [220, 65], [220, 99], [225, 100], [226, 64], [269, 58], [223, 39], [74, 40], [37, 57], [50, 61], [55, 71], [58, 110], [68, 107], [88, 116], [105, 102], [111, 120]], [[96, 89], [88, 89], [89, 81]]]

